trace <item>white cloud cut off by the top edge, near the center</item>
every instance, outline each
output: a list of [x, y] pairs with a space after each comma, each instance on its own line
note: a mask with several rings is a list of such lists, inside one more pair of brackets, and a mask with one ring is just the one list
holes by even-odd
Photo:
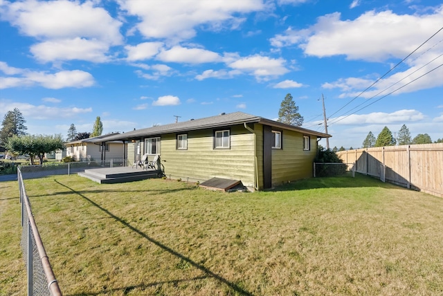
[[149, 5], [139, 0], [119, 0], [118, 3], [129, 15], [141, 19], [136, 28], [146, 38], [177, 41], [194, 37], [196, 26], [206, 25], [210, 30], [235, 29], [243, 18], [234, 15], [265, 8], [260, 0], [189, 0], [174, 1], [172, 5], [165, 5], [163, 0], [150, 0]]

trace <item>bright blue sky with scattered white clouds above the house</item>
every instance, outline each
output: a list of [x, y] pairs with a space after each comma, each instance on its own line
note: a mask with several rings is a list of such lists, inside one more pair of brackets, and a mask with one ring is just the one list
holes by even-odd
[[331, 147], [403, 124], [437, 140], [442, 28], [433, 0], [0, 0], [0, 118], [17, 107], [29, 133], [65, 137], [96, 116], [104, 133], [276, 119], [291, 93], [303, 127], [324, 131], [323, 94]]

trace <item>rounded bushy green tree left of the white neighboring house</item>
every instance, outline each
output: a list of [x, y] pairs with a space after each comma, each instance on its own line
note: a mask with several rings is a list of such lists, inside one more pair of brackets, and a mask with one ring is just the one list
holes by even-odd
[[16, 151], [19, 154], [29, 154], [30, 162], [34, 162], [37, 156], [40, 165], [43, 164], [43, 156], [45, 153], [64, 148], [62, 135], [43, 136], [43, 135], [25, 135], [12, 136], [8, 141], [8, 149]]

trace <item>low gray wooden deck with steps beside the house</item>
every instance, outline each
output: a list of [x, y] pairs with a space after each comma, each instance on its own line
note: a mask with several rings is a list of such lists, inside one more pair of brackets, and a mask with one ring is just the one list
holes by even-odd
[[163, 174], [161, 170], [158, 169], [146, 170], [135, 167], [105, 167], [102, 169], [85, 169], [84, 172], [80, 172], [78, 175], [100, 184], [109, 184], [159, 178]]

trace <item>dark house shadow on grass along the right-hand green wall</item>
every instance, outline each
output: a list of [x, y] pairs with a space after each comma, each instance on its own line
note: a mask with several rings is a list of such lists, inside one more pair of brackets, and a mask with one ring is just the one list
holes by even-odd
[[337, 176], [337, 177], [319, 177], [308, 178], [300, 181], [293, 181], [271, 189], [266, 189], [267, 192], [293, 191], [293, 190], [308, 190], [320, 188], [352, 188], [352, 187], [381, 187], [388, 189], [400, 189], [397, 185], [390, 183], [383, 183], [378, 178], [365, 176], [362, 174], [355, 174], [352, 176]]

